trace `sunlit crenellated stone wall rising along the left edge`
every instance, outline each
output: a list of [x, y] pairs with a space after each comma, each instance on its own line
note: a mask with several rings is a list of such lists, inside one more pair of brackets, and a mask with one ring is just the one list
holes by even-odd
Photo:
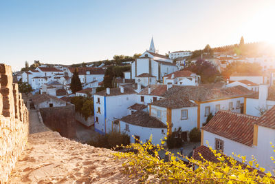
[[0, 64], [0, 183], [8, 176], [28, 141], [29, 112], [12, 83], [12, 69]]

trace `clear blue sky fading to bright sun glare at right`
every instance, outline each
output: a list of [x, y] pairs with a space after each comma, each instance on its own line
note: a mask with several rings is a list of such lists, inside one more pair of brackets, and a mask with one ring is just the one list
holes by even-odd
[[20, 70], [28, 61], [73, 64], [270, 41], [274, 0], [0, 0], [0, 62]]

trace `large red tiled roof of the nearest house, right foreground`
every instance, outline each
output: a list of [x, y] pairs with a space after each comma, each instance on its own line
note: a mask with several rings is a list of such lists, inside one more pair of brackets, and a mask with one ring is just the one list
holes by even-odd
[[253, 145], [253, 123], [259, 117], [221, 110], [201, 129], [244, 145]]

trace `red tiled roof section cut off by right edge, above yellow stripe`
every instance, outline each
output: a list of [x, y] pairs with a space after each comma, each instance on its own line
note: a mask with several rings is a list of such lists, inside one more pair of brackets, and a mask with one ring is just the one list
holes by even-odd
[[267, 110], [254, 124], [275, 129], [275, 106]]

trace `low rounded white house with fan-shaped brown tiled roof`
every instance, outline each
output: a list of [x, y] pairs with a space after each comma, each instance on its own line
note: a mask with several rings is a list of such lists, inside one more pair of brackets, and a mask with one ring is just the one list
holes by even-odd
[[[152, 135], [153, 144], [161, 144], [167, 134], [167, 125], [150, 116], [148, 112], [137, 111], [113, 122], [113, 130], [120, 130], [130, 136], [131, 143], [147, 142]], [[133, 137], [134, 136], [134, 137]]]

